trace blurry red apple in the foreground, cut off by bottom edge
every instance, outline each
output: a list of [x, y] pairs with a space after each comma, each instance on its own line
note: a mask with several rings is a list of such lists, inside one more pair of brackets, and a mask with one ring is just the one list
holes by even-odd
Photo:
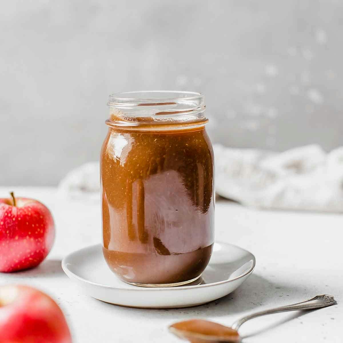
[[37, 289], [0, 287], [1, 343], [70, 343], [63, 312], [48, 295]]

